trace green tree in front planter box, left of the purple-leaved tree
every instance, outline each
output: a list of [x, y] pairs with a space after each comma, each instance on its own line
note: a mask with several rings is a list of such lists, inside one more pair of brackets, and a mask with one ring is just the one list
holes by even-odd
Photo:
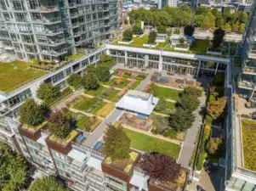
[[122, 126], [109, 125], [105, 132], [105, 154], [112, 161], [129, 158], [131, 140], [122, 130]]

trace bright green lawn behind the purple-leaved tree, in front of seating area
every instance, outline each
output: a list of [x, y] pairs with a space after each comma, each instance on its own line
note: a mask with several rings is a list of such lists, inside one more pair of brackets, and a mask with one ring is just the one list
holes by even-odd
[[124, 131], [131, 139], [131, 147], [141, 151], [156, 151], [158, 153], [167, 154], [174, 159], [178, 159], [180, 146], [170, 143], [159, 138], [152, 138], [140, 132], [134, 132], [124, 128]]

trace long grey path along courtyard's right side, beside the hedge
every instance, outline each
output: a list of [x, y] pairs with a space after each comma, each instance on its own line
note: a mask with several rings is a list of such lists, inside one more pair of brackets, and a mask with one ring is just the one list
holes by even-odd
[[202, 105], [205, 104], [205, 95], [203, 95], [200, 99], [201, 105], [195, 111], [196, 119], [190, 129], [185, 133], [185, 141], [179, 153], [178, 163], [181, 164], [184, 168], [189, 168], [189, 161], [191, 160], [191, 155], [195, 146], [196, 135], [198, 131], [198, 126], [200, 126], [201, 115], [199, 115], [199, 111], [201, 110]]

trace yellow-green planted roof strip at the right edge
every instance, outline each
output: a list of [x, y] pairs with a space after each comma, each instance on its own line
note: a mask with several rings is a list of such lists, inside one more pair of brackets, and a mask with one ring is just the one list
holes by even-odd
[[242, 124], [242, 147], [243, 147], [243, 159], [244, 168], [251, 171], [256, 171], [256, 122], [243, 120]]

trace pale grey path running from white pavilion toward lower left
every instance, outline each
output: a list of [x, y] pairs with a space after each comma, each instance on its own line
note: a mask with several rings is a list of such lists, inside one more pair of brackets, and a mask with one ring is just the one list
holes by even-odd
[[102, 121], [94, 132], [88, 136], [83, 144], [89, 148], [93, 148], [94, 144], [97, 143], [97, 141], [104, 135], [105, 129], [108, 127], [107, 125], [117, 121], [117, 119], [121, 117], [122, 113], [122, 110], [113, 110], [111, 114], [105, 118], [105, 121]]

